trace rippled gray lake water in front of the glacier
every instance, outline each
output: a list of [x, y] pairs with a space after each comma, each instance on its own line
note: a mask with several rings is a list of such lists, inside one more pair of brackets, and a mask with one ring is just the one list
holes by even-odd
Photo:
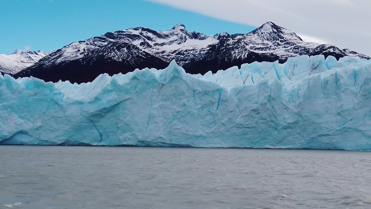
[[371, 208], [371, 152], [0, 146], [0, 208]]

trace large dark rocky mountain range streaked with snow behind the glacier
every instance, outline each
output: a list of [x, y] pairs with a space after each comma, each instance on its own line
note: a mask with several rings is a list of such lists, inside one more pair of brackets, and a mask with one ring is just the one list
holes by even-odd
[[204, 74], [254, 61], [279, 60], [300, 55], [370, 57], [334, 45], [304, 42], [294, 32], [267, 22], [246, 34], [222, 32], [214, 36], [190, 32], [183, 24], [155, 31], [138, 27], [107, 32], [73, 42], [52, 52], [14, 77], [45, 81], [88, 82], [101, 73], [127, 73], [135, 68], [165, 68], [175, 60], [187, 73]]

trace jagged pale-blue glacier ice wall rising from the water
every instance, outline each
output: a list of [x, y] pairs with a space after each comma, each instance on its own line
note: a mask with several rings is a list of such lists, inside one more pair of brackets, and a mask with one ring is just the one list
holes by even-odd
[[174, 61], [91, 83], [0, 76], [0, 144], [371, 150], [371, 61], [323, 55], [204, 75]]

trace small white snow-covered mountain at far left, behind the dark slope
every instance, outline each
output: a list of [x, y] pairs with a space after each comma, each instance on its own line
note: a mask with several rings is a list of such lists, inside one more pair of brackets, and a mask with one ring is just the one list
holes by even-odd
[[0, 72], [15, 74], [29, 67], [49, 53], [43, 51], [25, 52], [17, 49], [12, 54], [0, 54]]

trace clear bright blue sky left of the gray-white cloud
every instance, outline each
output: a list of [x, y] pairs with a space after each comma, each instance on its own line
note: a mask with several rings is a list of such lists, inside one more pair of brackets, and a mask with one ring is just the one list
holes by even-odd
[[0, 0], [0, 53], [51, 51], [108, 31], [143, 26], [167, 30], [183, 23], [214, 35], [257, 26], [220, 20], [144, 0]]

